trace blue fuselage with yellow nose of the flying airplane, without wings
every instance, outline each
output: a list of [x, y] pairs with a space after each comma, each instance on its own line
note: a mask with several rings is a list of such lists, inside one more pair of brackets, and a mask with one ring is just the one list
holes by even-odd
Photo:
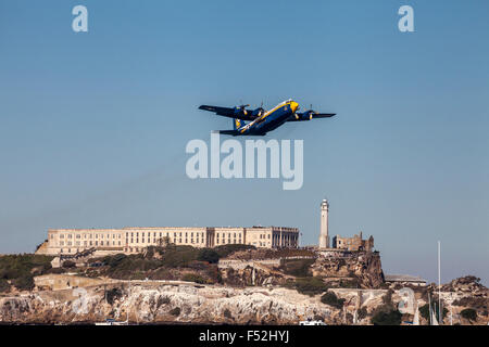
[[292, 100], [287, 100], [276, 105], [271, 111], [265, 112], [259, 118], [237, 129], [240, 136], [263, 136], [287, 121], [299, 107]]

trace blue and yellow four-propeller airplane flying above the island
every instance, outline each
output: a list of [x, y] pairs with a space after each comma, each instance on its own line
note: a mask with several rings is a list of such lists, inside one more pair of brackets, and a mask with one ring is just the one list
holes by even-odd
[[[286, 121], [303, 121], [314, 118], [328, 118], [335, 113], [317, 113], [309, 110], [298, 113], [299, 104], [292, 99], [286, 100], [274, 108], [265, 111], [263, 107], [247, 110], [250, 105], [235, 107], [220, 107], [201, 105], [199, 110], [214, 112], [218, 116], [234, 118], [234, 130], [220, 130], [220, 133], [236, 136], [265, 136], [268, 131], [275, 130]], [[246, 124], [246, 120], [250, 123]]]

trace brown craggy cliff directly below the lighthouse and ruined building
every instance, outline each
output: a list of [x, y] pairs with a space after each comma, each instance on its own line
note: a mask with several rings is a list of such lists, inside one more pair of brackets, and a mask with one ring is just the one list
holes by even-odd
[[318, 257], [311, 270], [316, 277], [354, 281], [362, 288], [377, 288], [384, 283], [378, 253], [358, 252], [344, 257]]

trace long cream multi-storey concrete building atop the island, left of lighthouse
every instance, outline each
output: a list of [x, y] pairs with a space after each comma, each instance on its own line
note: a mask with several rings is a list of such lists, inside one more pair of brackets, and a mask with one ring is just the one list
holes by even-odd
[[49, 229], [37, 254], [70, 255], [97, 249], [134, 254], [170, 242], [193, 247], [247, 244], [265, 248], [297, 248], [299, 229], [286, 227], [152, 227], [122, 229]]

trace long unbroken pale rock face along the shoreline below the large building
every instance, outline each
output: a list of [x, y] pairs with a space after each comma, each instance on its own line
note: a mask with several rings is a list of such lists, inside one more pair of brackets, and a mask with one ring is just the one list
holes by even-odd
[[[108, 293], [112, 293], [108, 295]], [[106, 318], [139, 323], [297, 324], [339, 310], [287, 288], [127, 284], [33, 292], [0, 298], [0, 322], [75, 323]]]

